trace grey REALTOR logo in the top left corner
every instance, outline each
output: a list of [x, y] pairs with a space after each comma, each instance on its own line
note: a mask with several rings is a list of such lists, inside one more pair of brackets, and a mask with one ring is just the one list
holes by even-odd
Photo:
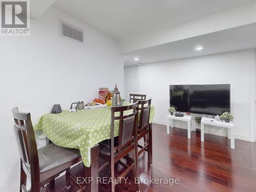
[[29, 35], [29, 1], [1, 1], [1, 35]]

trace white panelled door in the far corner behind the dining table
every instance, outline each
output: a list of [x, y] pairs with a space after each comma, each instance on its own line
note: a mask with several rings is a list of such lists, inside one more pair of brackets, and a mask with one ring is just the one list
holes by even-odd
[[124, 98], [129, 102], [130, 93], [140, 93], [139, 67], [124, 68]]

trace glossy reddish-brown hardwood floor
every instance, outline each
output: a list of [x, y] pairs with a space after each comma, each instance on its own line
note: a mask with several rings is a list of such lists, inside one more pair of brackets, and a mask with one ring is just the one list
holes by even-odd
[[[147, 154], [139, 157], [140, 178], [178, 178], [179, 184], [140, 184], [141, 191], [256, 191], [256, 143], [235, 140], [235, 150], [230, 149], [226, 137], [205, 134], [205, 142], [200, 135], [172, 129], [166, 134], [166, 126], [153, 124], [153, 167], [147, 166]], [[73, 169], [73, 177], [79, 176], [78, 165]], [[116, 172], [121, 167], [116, 166]], [[108, 170], [105, 173], [108, 175]], [[136, 191], [134, 182], [118, 184], [116, 191]], [[55, 189], [65, 191], [65, 176], [56, 180]], [[109, 186], [100, 186], [106, 191]], [[72, 190], [79, 185], [72, 181]], [[49, 191], [47, 187], [42, 191]]]

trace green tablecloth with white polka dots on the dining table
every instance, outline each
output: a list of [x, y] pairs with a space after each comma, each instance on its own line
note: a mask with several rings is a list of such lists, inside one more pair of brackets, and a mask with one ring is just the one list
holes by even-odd
[[[80, 150], [82, 161], [90, 167], [91, 147], [105, 139], [110, 139], [111, 107], [63, 111], [59, 114], [46, 114], [34, 126], [42, 130], [56, 145]], [[150, 122], [153, 121], [155, 108], [151, 106]], [[118, 121], [115, 122], [115, 136], [118, 135]]]

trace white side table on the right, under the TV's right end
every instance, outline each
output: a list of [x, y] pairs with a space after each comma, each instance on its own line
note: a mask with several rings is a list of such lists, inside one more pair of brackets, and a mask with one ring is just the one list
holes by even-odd
[[216, 119], [203, 117], [201, 120], [201, 141], [204, 142], [204, 125], [221, 126], [228, 128], [228, 138], [231, 139], [231, 148], [234, 148], [234, 124], [217, 121]]

